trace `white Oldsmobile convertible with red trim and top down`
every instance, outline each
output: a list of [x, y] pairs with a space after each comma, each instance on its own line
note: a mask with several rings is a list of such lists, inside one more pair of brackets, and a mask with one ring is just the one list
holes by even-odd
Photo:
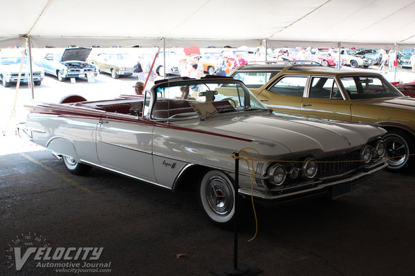
[[252, 159], [239, 163], [237, 193], [268, 203], [336, 199], [387, 166], [382, 128], [276, 115], [230, 77], [166, 79], [143, 97], [26, 107], [19, 130], [63, 157], [70, 172], [97, 166], [169, 190], [187, 181], [219, 225], [234, 217], [239, 150]]

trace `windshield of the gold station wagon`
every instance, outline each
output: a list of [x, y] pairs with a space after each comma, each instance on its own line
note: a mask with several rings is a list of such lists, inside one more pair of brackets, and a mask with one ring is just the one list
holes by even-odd
[[350, 99], [376, 99], [403, 96], [388, 81], [380, 77], [340, 77]]

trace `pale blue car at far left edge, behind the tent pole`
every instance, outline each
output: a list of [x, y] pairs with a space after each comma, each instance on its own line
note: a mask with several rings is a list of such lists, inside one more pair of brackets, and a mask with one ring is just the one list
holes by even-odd
[[[17, 83], [19, 79], [19, 72], [21, 66], [21, 55], [0, 55], [0, 80], [4, 87], [11, 86], [12, 83]], [[40, 86], [45, 77], [45, 72], [42, 68], [33, 66], [33, 83], [35, 86]], [[30, 68], [27, 57], [24, 57], [23, 67], [21, 70], [20, 82], [28, 83], [30, 77]]]

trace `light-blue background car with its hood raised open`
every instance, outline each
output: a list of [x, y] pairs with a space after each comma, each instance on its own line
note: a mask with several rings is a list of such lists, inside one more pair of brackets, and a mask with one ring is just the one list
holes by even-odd
[[86, 59], [91, 48], [75, 47], [66, 48], [64, 52], [48, 52], [44, 59], [35, 60], [35, 64], [43, 68], [46, 74], [57, 77], [59, 81], [69, 78], [87, 77], [93, 74], [97, 77], [99, 68]]

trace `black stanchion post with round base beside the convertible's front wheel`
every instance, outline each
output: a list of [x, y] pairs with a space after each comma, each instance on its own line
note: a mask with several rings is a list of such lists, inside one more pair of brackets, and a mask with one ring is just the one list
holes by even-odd
[[253, 276], [262, 272], [258, 268], [238, 263], [238, 188], [239, 188], [239, 153], [234, 152], [235, 181], [234, 181], [234, 262], [225, 266], [219, 266], [210, 270], [210, 273], [218, 276], [245, 275]]

